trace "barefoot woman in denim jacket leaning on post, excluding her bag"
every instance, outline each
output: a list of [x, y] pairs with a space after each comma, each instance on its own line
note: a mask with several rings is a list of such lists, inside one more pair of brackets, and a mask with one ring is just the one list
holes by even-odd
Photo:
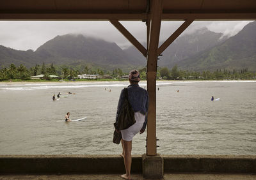
[[[148, 112], [148, 92], [139, 86], [140, 73], [137, 70], [132, 70], [129, 73], [130, 85], [127, 87], [128, 100], [134, 110], [134, 117], [136, 123], [125, 130], [121, 130], [122, 133], [122, 147], [124, 155], [124, 165], [126, 174], [121, 177], [124, 179], [131, 179], [131, 151], [132, 151], [132, 138], [138, 132], [143, 133], [147, 126], [147, 112]], [[122, 108], [124, 101], [124, 89], [120, 94], [118, 101], [118, 107], [116, 112], [116, 123], [118, 123], [118, 114]], [[119, 131], [119, 130], [116, 130]]]

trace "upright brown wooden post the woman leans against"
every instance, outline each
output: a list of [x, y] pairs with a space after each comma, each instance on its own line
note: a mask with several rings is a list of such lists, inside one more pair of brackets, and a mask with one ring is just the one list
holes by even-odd
[[156, 71], [157, 48], [161, 27], [163, 0], [150, 1], [150, 29], [148, 35], [147, 89], [149, 96], [147, 155], [156, 156]]

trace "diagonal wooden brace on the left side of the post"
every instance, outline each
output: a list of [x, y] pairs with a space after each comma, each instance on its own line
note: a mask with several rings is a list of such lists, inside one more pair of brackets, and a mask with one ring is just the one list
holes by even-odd
[[125, 38], [127, 38], [127, 40], [132, 43], [132, 45], [134, 45], [143, 54], [143, 56], [147, 57], [147, 49], [145, 49], [145, 47], [143, 47], [143, 45], [141, 45], [141, 43], [136, 40], [136, 38], [134, 38], [134, 36], [132, 36], [132, 34], [129, 33], [129, 31], [127, 31], [127, 29], [125, 29], [125, 27], [122, 26], [122, 24], [118, 22], [118, 20], [111, 19], [109, 21], [111, 22], [111, 24], [113, 24], [113, 26], [116, 27], [116, 29], [118, 29], [118, 31], [120, 31], [120, 33], [125, 36]]

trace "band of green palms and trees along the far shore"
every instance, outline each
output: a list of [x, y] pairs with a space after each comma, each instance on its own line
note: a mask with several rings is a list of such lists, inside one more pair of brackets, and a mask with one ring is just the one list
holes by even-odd
[[[0, 80], [10, 80], [10, 79], [20, 79], [29, 80], [31, 76], [45, 75], [44, 79], [51, 80], [49, 75], [58, 75], [63, 79], [73, 79], [79, 74], [98, 74], [105, 75], [108, 74], [113, 77], [113, 79], [120, 79], [123, 75], [127, 74], [122, 69], [116, 68], [111, 71], [103, 71], [100, 68], [83, 66], [81, 70], [75, 70], [69, 66], [54, 66], [53, 64], [45, 65], [43, 63], [41, 66], [36, 64], [31, 68], [26, 68], [23, 64], [20, 66], [15, 66], [15, 64], [10, 64], [9, 67], [2, 66], [0, 69]], [[141, 68], [140, 77], [142, 80], [147, 79], [147, 68]], [[226, 70], [217, 69], [216, 71], [188, 71], [179, 70], [177, 66], [173, 66], [170, 70], [167, 67], [157, 68], [157, 79], [166, 80], [223, 80], [223, 79], [256, 79], [256, 73], [248, 71], [248, 68], [243, 68], [241, 70]]]

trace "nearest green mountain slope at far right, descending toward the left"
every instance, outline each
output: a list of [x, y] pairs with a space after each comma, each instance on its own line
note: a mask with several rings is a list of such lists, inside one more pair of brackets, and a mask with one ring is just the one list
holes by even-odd
[[220, 45], [188, 57], [177, 65], [185, 70], [242, 69], [256, 71], [256, 21]]

